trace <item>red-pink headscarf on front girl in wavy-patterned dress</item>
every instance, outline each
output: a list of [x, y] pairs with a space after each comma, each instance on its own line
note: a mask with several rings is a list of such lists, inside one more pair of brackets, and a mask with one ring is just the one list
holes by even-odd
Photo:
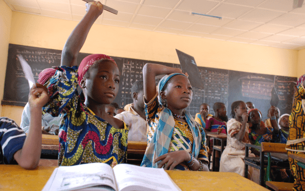
[[80, 81], [83, 79], [84, 75], [87, 73], [89, 68], [100, 60], [109, 60], [113, 62], [116, 65], [114, 59], [112, 59], [110, 56], [107, 56], [105, 54], [91, 54], [86, 56], [81, 62], [78, 67], [78, 84], [80, 85]]

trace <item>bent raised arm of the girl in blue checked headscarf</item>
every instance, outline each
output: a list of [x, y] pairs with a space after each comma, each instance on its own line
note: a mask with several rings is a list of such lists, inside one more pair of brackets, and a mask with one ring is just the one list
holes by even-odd
[[147, 102], [154, 98], [157, 93], [156, 76], [171, 73], [182, 73], [181, 69], [166, 67], [156, 63], [146, 63], [143, 67], [144, 97]]

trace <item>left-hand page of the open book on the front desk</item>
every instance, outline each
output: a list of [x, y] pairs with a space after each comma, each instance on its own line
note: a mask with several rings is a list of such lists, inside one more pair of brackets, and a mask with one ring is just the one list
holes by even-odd
[[112, 168], [108, 164], [90, 163], [58, 167], [54, 170], [43, 191], [75, 190], [97, 185], [106, 185], [117, 190]]

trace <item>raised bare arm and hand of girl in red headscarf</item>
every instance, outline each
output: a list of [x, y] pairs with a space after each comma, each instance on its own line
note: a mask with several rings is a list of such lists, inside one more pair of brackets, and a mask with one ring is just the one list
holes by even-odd
[[60, 66], [77, 66], [78, 53], [93, 23], [103, 13], [103, 5], [100, 2], [86, 3], [86, 11], [87, 13], [74, 28], [64, 46]]

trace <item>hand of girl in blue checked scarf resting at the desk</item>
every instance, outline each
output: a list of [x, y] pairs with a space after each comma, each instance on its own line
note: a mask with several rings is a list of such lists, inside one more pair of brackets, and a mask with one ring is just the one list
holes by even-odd
[[158, 168], [164, 166], [164, 170], [173, 170], [177, 165], [183, 162], [188, 162], [191, 159], [191, 155], [185, 150], [177, 150], [173, 152], [168, 152], [156, 158], [154, 163], [161, 161]]

